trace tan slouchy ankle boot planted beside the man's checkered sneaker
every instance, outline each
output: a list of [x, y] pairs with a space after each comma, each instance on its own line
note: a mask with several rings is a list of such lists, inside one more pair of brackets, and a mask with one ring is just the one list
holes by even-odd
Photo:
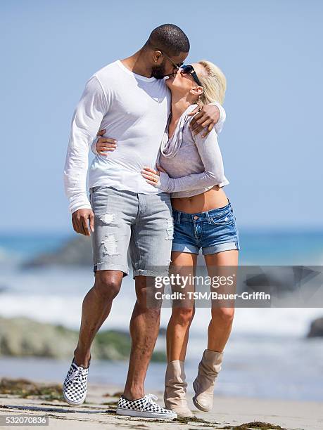
[[187, 405], [184, 361], [174, 360], [167, 364], [165, 374], [165, 408], [176, 412], [179, 417], [193, 417]]

